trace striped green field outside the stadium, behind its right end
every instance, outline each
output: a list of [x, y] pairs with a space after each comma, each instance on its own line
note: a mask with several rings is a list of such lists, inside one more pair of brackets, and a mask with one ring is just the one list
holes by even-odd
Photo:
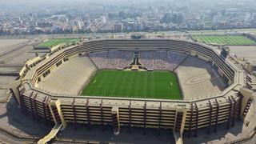
[[194, 35], [193, 39], [198, 42], [205, 42], [206, 44], [219, 44], [219, 45], [255, 45], [256, 42], [246, 38], [242, 35]]

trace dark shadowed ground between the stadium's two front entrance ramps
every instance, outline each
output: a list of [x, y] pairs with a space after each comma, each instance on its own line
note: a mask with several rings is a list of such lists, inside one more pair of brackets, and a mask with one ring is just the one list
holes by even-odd
[[175, 143], [172, 130], [146, 129], [144, 134], [143, 128], [121, 127], [120, 134], [114, 135], [111, 126], [90, 126], [78, 125], [78, 129], [74, 129], [74, 124], [68, 124], [65, 130], [58, 134], [58, 138], [72, 138], [82, 141], [93, 142], [110, 142], [110, 143], [138, 143], [138, 144], [160, 144]]

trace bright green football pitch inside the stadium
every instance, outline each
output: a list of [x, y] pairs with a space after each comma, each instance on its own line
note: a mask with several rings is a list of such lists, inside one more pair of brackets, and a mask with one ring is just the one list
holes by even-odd
[[182, 99], [178, 80], [169, 71], [99, 70], [82, 95], [119, 98]]

